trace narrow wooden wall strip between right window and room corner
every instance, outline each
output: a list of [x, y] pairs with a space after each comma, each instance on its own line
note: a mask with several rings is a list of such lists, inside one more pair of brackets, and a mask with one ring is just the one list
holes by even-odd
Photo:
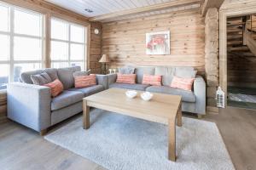
[[[95, 34], [98, 29], [99, 34]], [[92, 73], [102, 73], [102, 65], [99, 63], [102, 54], [102, 23], [90, 23], [90, 70]]]

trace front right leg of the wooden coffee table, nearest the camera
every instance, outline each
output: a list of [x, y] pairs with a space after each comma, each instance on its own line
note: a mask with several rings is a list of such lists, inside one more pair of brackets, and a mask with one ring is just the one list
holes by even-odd
[[176, 161], [176, 120], [168, 121], [168, 158], [170, 161]]

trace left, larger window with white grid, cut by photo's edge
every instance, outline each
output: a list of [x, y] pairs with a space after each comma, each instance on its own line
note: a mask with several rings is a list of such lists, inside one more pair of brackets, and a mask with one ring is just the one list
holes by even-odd
[[43, 14], [0, 3], [0, 89], [43, 67]]

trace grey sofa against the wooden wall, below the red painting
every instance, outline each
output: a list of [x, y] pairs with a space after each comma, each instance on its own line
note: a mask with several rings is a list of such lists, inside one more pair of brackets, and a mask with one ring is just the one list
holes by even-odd
[[[116, 74], [108, 75], [108, 88], [128, 88], [162, 94], [175, 94], [182, 96], [182, 111], [197, 114], [199, 117], [206, 114], [206, 82], [201, 76], [195, 77], [192, 91], [185, 91], [178, 88], [171, 88], [173, 76], [188, 76], [194, 72], [193, 67], [172, 67], [172, 66], [131, 66], [135, 67], [137, 84], [116, 83]], [[143, 85], [143, 74], [161, 75], [163, 86]]]

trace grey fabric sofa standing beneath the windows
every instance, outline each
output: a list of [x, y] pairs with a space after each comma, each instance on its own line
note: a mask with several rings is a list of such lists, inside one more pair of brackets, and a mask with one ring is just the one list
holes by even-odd
[[[26, 127], [45, 133], [46, 129], [82, 111], [82, 99], [108, 88], [108, 77], [96, 75], [97, 85], [89, 88], [74, 88], [73, 72], [80, 67], [44, 69], [23, 72], [20, 82], [10, 83], [7, 88], [8, 117]], [[50, 88], [32, 84], [31, 75], [43, 71], [52, 80], [59, 78], [64, 92], [51, 98]]]

